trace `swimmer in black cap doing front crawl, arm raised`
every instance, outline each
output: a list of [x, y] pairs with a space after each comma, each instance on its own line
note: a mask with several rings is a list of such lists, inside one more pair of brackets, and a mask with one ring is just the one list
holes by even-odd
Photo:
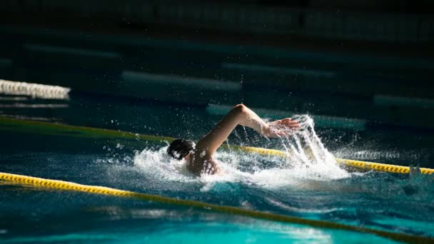
[[213, 154], [238, 125], [253, 128], [266, 137], [291, 136], [296, 129], [300, 128], [300, 124], [291, 118], [272, 122], [263, 121], [250, 108], [238, 104], [196, 145], [193, 141], [176, 139], [168, 147], [167, 152], [178, 160], [185, 159], [186, 168], [196, 176], [218, 173], [218, 164], [213, 160]]

